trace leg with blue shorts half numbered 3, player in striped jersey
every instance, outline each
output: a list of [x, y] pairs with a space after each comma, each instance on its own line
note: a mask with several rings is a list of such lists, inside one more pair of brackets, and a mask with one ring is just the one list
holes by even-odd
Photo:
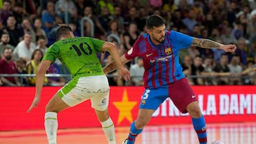
[[128, 138], [124, 140], [124, 144], [133, 144], [135, 139], [142, 133], [144, 126], [149, 123], [152, 114], [159, 105], [166, 99], [166, 89], [146, 89], [139, 106], [139, 112], [136, 121], [133, 121], [130, 126]]

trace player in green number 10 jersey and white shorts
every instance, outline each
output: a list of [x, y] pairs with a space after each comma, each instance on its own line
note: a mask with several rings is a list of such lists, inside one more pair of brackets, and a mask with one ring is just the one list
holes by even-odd
[[114, 62], [117, 63], [119, 77], [127, 80], [130, 78], [130, 74], [120, 62], [117, 47], [110, 42], [95, 38], [74, 37], [71, 28], [67, 25], [59, 26], [57, 40], [48, 48], [43, 57], [36, 74], [36, 94], [27, 112], [38, 106], [43, 88], [43, 78], [50, 65], [58, 58], [63, 65], [68, 67], [73, 79], [59, 89], [46, 105], [44, 124], [48, 143], [57, 143], [58, 112], [90, 99], [108, 143], [115, 144], [114, 124], [107, 109], [110, 87], [97, 58], [97, 52], [110, 52]]

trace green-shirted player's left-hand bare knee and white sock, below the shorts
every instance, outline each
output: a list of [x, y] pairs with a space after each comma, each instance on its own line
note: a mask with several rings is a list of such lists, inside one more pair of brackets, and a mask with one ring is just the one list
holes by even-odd
[[46, 135], [49, 144], [57, 143], [57, 130], [58, 130], [58, 119], [57, 113], [62, 111], [63, 109], [68, 108], [69, 106], [60, 99], [58, 94], [55, 94], [48, 104], [46, 105], [46, 113], [45, 113], [45, 129]]

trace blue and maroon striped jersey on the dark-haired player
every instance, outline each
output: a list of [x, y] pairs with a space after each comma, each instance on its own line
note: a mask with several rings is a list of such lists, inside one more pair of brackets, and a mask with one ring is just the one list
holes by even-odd
[[143, 57], [144, 87], [156, 88], [185, 77], [179, 63], [178, 51], [189, 48], [193, 37], [176, 31], [165, 32], [164, 43], [154, 45], [148, 33], [141, 35], [125, 53], [128, 60]]

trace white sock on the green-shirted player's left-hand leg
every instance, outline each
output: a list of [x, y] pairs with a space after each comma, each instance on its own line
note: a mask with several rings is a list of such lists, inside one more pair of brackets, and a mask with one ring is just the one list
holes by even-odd
[[47, 112], [45, 114], [45, 128], [46, 135], [49, 144], [57, 143], [57, 129], [58, 129], [58, 120], [57, 113], [55, 112]]

